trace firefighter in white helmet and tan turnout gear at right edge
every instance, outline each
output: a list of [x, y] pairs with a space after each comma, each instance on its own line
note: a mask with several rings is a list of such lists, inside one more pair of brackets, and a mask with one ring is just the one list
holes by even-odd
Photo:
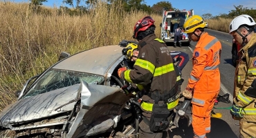
[[[234, 102], [230, 113], [239, 119], [240, 136], [256, 137], [256, 33], [255, 21], [242, 14], [230, 22], [232, 37], [242, 48], [235, 71]], [[253, 82], [253, 83], [252, 83]]]

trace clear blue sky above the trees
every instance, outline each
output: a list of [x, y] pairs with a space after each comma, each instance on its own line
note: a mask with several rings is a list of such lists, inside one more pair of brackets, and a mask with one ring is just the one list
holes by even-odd
[[[1, 0], [0, 0], [1, 1]], [[15, 2], [28, 2], [28, 0], [12, 0]], [[48, 0], [43, 3], [44, 6], [61, 6], [63, 0]], [[167, 0], [144, 0], [148, 6], [153, 6], [155, 3]], [[82, 3], [83, 1], [81, 1]], [[235, 10], [235, 6], [244, 6], [244, 8], [256, 9], [256, 0], [176, 0], [169, 1], [172, 3], [172, 7], [180, 10], [194, 9], [194, 14], [205, 14], [210, 13], [213, 16], [226, 13], [230, 10]]]

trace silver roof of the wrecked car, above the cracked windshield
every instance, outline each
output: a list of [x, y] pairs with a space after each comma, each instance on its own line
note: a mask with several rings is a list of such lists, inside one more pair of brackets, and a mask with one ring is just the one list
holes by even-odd
[[53, 68], [104, 76], [120, 57], [122, 57], [122, 47], [118, 45], [102, 46], [72, 55], [57, 63]]

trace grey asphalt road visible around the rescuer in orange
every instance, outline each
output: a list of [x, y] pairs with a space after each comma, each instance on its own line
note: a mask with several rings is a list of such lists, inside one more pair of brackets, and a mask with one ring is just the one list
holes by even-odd
[[[232, 106], [233, 81], [235, 75], [235, 67], [232, 66], [231, 61], [232, 37], [228, 33], [215, 30], [205, 29], [205, 32], [208, 32], [210, 35], [217, 37], [217, 39], [221, 41], [221, 63], [219, 65], [219, 70], [221, 72], [221, 90], [219, 95], [224, 95], [226, 93], [230, 95], [230, 103], [219, 102], [217, 106], [214, 106], [214, 112], [221, 113], [222, 117], [212, 117], [210, 138], [237, 138], [239, 136], [239, 121], [232, 119], [229, 109], [230, 106]], [[174, 48], [173, 43], [167, 43], [167, 46], [170, 50], [183, 51], [192, 57], [192, 51], [194, 50], [194, 46], [196, 46], [196, 42], [190, 42], [190, 47], [183, 46], [181, 48]], [[185, 86], [188, 83], [188, 78], [190, 77], [191, 70], [192, 61], [189, 61], [185, 68], [183, 68], [182, 78], [184, 79], [184, 82], [181, 90], [185, 89]], [[183, 121], [181, 121], [179, 128], [172, 128], [171, 132], [168, 132], [168, 137], [193, 137], [192, 126], [186, 126], [186, 122]]]

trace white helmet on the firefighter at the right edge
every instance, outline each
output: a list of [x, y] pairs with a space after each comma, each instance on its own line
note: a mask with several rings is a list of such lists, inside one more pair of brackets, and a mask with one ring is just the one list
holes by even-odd
[[256, 23], [253, 20], [252, 17], [250, 17], [250, 15], [248, 14], [242, 14], [239, 15], [238, 17], [235, 17], [235, 19], [233, 19], [230, 23], [229, 26], [229, 33], [233, 32], [234, 30], [237, 30], [239, 28], [239, 26], [241, 25], [248, 25], [248, 26], [254, 26]]

